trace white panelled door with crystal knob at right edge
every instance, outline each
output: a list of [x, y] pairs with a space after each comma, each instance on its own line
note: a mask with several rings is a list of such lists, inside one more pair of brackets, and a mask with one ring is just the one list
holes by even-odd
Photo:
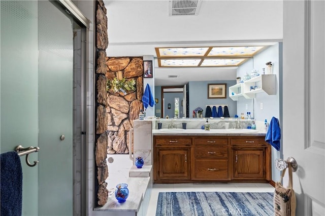
[[324, 1], [283, 2], [283, 158], [299, 166], [297, 215], [325, 215], [324, 11]]

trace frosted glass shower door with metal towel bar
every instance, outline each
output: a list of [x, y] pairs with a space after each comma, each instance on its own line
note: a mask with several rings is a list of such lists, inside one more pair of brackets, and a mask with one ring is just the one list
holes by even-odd
[[40, 147], [21, 158], [22, 215], [73, 215], [76, 28], [49, 1], [1, 1], [1, 153]]

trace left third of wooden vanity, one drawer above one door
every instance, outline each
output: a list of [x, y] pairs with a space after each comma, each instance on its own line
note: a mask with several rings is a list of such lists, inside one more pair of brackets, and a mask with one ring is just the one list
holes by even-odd
[[190, 180], [191, 138], [154, 137], [154, 182]]

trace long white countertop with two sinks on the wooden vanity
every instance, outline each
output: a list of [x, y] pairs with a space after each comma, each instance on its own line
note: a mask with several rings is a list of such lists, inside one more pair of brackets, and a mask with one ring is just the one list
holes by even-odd
[[[246, 131], [246, 130], [245, 130]], [[169, 133], [162, 132], [159, 129], [153, 129], [152, 134], [154, 136], [265, 136], [266, 133], [263, 131], [257, 131], [253, 133], [247, 133], [236, 129], [236, 131], [230, 131], [229, 129], [210, 129], [209, 131], [204, 129], [184, 129], [181, 132]]]

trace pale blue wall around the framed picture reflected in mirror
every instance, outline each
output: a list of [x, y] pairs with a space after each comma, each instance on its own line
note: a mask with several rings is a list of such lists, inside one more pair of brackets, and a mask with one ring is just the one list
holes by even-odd
[[[226, 83], [225, 99], [208, 99], [208, 84]], [[228, 97], [228, 88], [236, 84], [236, 80], [218, 80], [218, 81], [191, 81], [189, 82], [189, 117], [195, 108], [203, 108], [205, 116], [207, 105], [228, 105], [230, 117], [237, 114], [237, 102]], [[212, 107], [211, 107], [212, 108]], [[217, 107], [218, 108], [218, 107]]]

